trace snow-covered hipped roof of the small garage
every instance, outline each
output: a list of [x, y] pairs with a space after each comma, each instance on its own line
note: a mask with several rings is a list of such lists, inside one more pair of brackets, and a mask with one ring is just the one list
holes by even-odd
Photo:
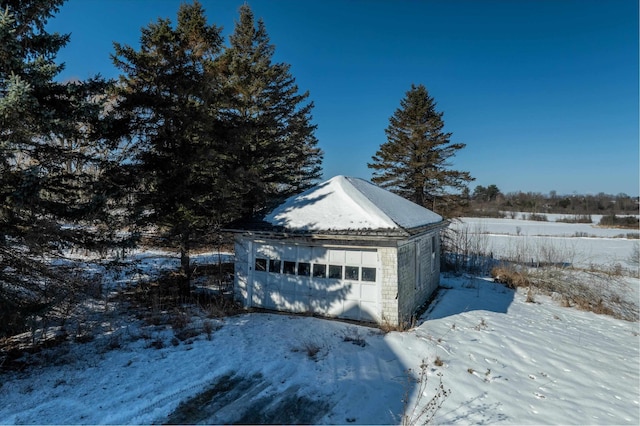
[[295, 231], [409, 230], [442, 216], [366, 180], [335, 176], [290, 197], [263, 221]]

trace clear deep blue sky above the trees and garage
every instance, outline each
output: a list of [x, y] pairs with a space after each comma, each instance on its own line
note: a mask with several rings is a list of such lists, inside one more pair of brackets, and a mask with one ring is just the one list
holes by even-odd
[[[179, 0], [69, 0], [60, 79], [117, 77], [113, 41], [175, 21]], [[242, 0], [201, 0], [228, 35]], [[324, 176], [367, 162], [411, 84], [424, 84], [459, 151], [452, 167], [503, 192], [638, 195], [637, 0], [253, 0], [275, 59], [315, 103]]]

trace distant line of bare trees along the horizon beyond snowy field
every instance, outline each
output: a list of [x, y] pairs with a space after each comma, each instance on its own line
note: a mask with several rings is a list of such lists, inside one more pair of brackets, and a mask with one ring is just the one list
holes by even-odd
[[556, 191], [509, 192], [503, 194], [496, 185], [478, 185], [473, 192], [463, 191], [461, 215], [502, 216], [506, 211], [560, 213], [567, 215], [638, 214], [638, 197], [627, 194], [559, 195]]

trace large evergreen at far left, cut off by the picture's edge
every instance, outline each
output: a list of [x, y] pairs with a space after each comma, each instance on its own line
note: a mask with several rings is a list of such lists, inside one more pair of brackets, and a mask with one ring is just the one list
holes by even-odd
[[107, 211], [108, 161], [95, 154], [109, 149], [100, 96], [109, 83], [54, 81], [69, 36], [45, 24], [62, 3], [0, 0], [0, 335], [82, 285], [47, 257], [105, 242], [94, 225]]

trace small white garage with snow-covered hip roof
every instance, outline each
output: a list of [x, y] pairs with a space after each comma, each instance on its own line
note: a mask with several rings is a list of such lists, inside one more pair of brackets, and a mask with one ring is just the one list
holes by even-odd
[[399, 325], [439, 282], [441, 216], [358, 178], [336, 176], [235, 234], [243, 306]]

